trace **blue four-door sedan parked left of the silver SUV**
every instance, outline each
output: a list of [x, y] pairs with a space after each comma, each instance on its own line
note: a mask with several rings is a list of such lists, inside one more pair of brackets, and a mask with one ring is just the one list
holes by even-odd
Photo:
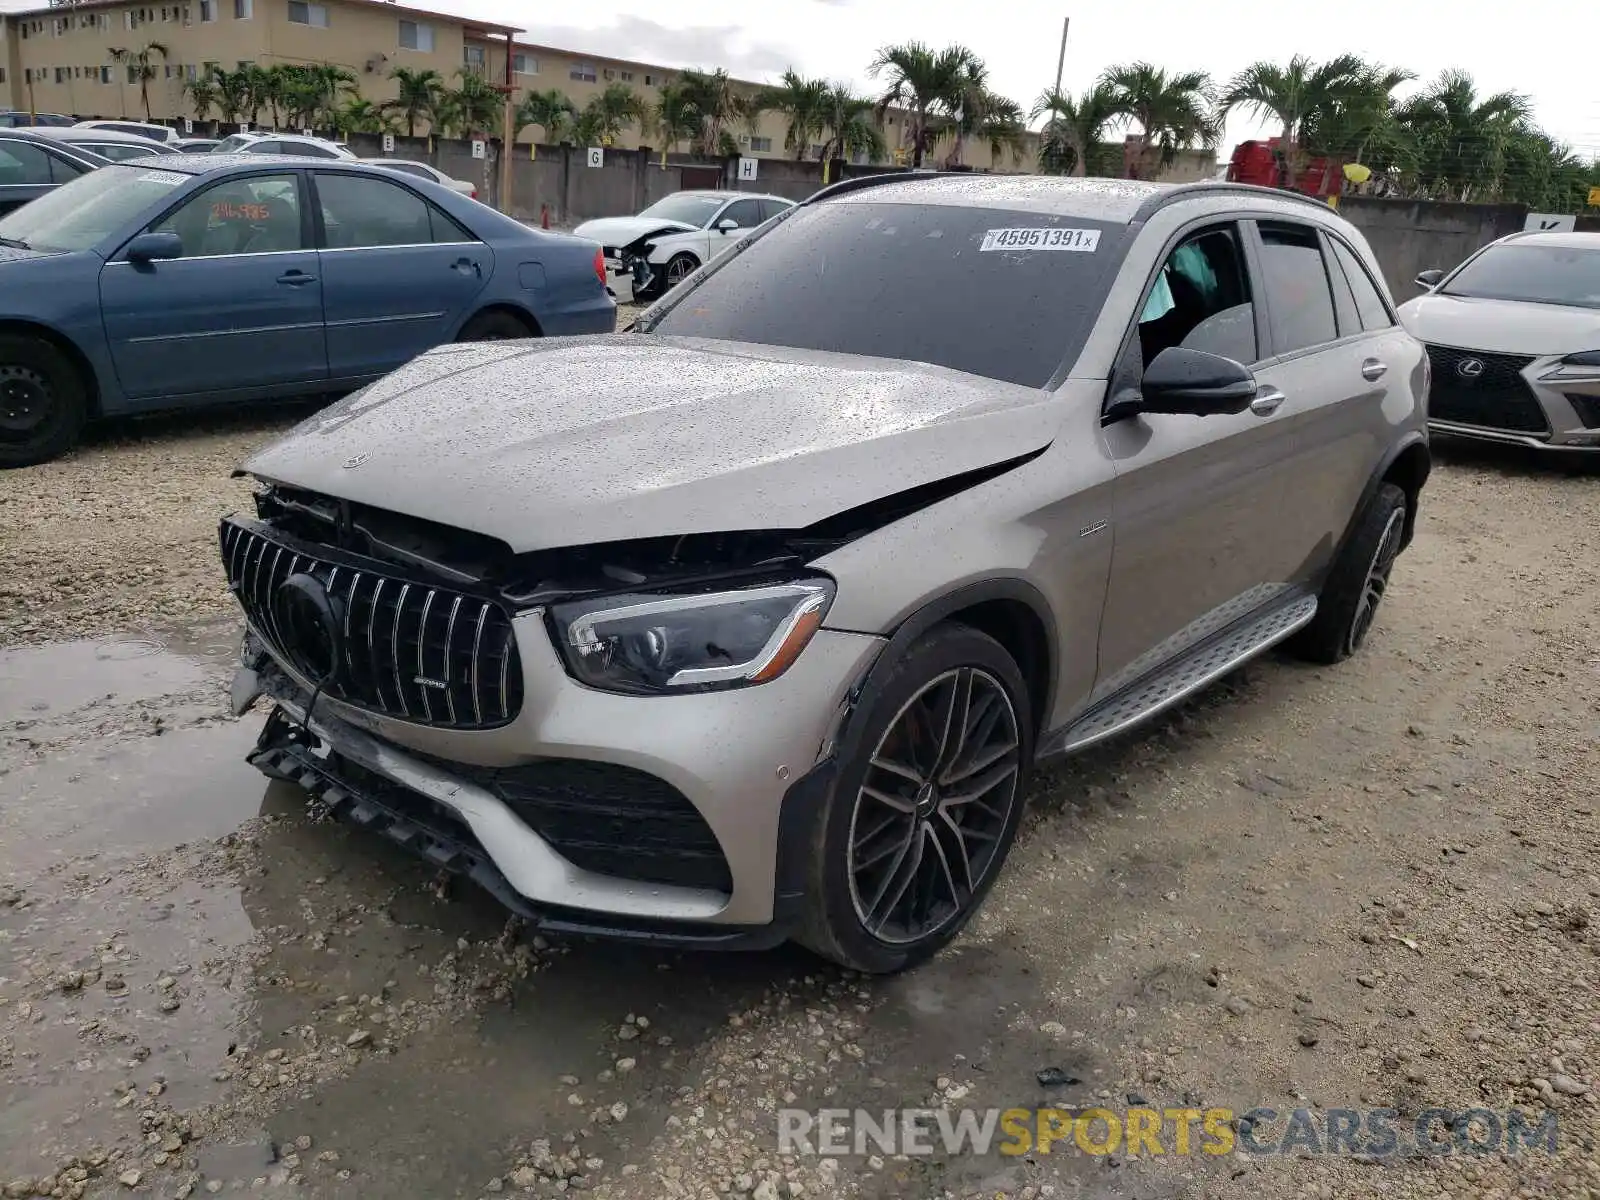
[[163, 155], [0, 219], [0, 467], [98, 416], [347, 392], [442, 342], [611, 333], [592, 242], [358, 162]]

